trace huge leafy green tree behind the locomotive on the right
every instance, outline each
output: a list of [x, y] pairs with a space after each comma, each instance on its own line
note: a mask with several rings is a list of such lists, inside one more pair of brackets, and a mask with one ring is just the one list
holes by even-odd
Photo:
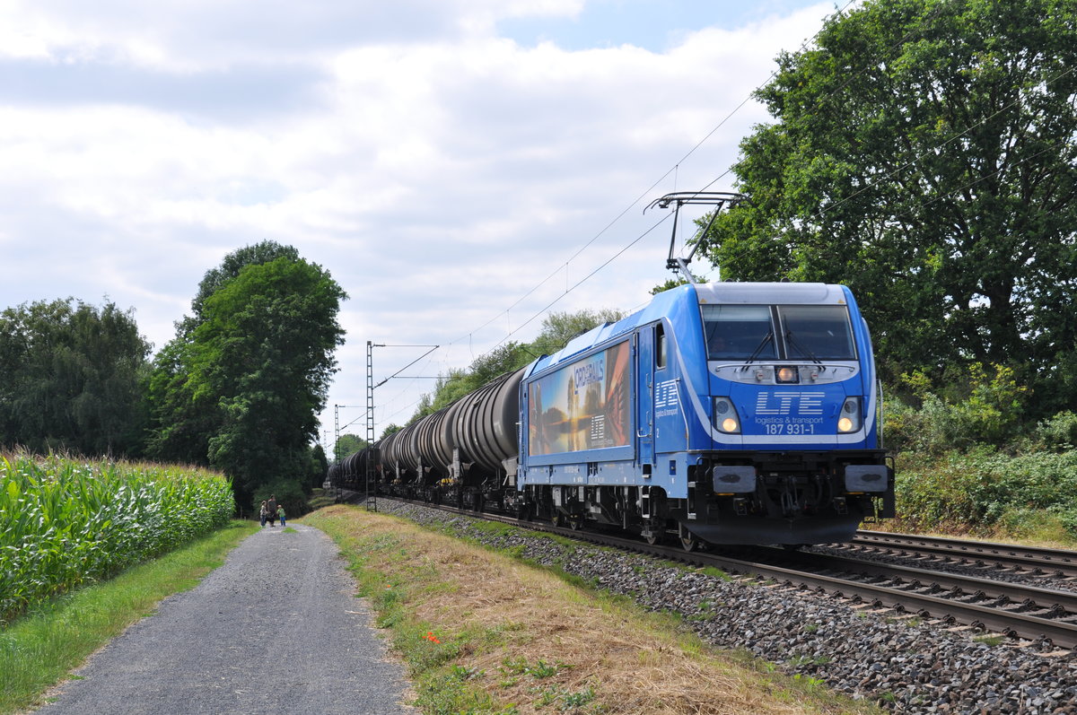
[[1077, 395], [1077, 2], [868, 0], [757, 93], [738, 280], [849, 284], [891, 377], [1009, 365]]

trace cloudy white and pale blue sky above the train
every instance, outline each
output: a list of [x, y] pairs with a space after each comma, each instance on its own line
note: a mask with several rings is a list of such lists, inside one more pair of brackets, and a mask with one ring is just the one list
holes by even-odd
[[644, 208], [735, 191], [752, 90], [835, 10], [0, 0], [0, 308], [111, 300], [156, 352], [225, 255], [293, 246], [349, 295], [323, 444], [366, 434], [367, 341], [380, 435], [551, 310], [645, 305]]

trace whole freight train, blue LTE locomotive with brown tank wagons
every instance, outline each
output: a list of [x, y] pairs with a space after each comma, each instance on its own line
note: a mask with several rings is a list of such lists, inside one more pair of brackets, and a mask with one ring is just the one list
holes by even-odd
[[879, 411], [868, 328], [848, 288], [683, 285], [358, 452], [342, 472], [373, 460], [390, 494], [673, 536], [688, 549], [840, 542], [894, 515]]

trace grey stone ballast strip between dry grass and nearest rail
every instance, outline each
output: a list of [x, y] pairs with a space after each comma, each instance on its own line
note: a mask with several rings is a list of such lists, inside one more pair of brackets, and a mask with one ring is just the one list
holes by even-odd
[[723, 579], [640, 555], [547, 536], [498, 535], [446, 511], [379, 500], [380, 511], [557, 566], [652, 611], [680, 614], [704, 641], [907, 713], [1077, 714], [1077, 657], [1046, 643], [989, 645], [968, 629], [826, 595]]

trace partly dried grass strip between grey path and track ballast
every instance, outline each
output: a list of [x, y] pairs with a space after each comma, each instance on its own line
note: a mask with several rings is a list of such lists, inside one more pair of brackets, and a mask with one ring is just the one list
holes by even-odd
[[875, 713], [557, 574], [362, 507], [330, 534], [428, 714]]

